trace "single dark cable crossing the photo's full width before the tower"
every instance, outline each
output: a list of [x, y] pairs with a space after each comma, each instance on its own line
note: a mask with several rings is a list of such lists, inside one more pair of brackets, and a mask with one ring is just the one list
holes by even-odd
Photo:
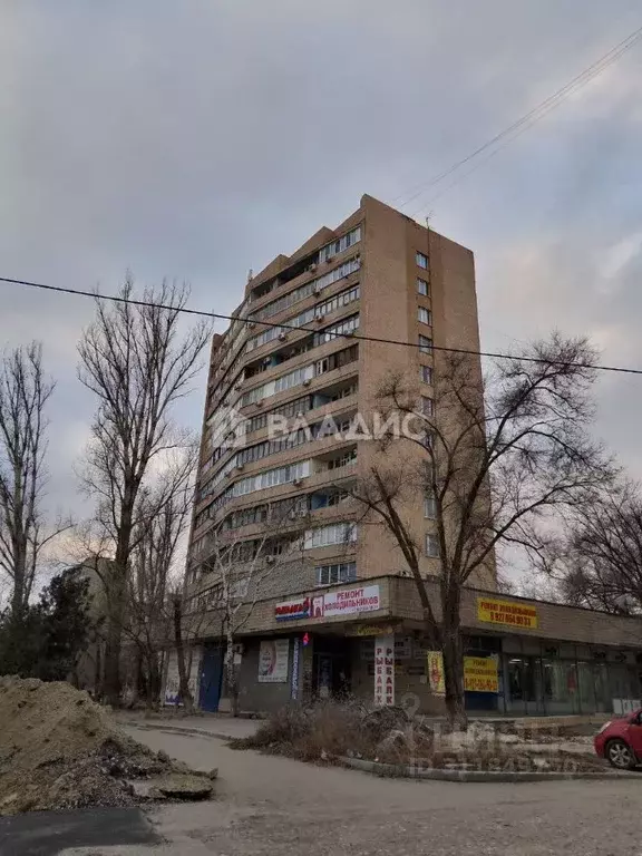
[[[93, 300], [108, 300], [114, 303], [128, 303], [134, 307], [148, 307], [150, 309], [163, 309], [167, 310], [169, 312], [182, 312], [183, 314], [187, 315], [197, 315], [200, 318], [213, 318], [215, 320], [222, 320], [222, 321], [240, 321], [244, 324], [259, 324], [261, 327], [268, 327], [268, 328], [279, 328], [280, 330], [294, 330], [295, 332], [309, 332], [309, 333], [319, 333], [323, 332], [320, 331], [315, 327], [296, 327], [294, 324], [288, 324], [288, 323], [275, 323], [273, 321], [259, 321], [257, 319], [253, 318], [239, 318], [237, 315], [224, 315], [220, 312], [207, 312], [202, 309], [188, 309], [187, 307], [173, 307], [171, 304], [165, 303], [154, 303], [153, 301], [148, 300], [137, 300], [135, 298], [121, 298], [117, 294], [99, 294], [95, 291], [82, 291], [80, 289], [69, 289], [64, 288], [61, 285], [46, 285], [41, 282], [29, 282], [28, 280], [14, 280], [9, 276], [0, 276], [0, 282], [7, 282], [12, 285], [25, 285], [31, 289], [41, 289], [42, 291], [51, 291], [57, 292], [60, 294], [74, 294], [76, 296], [81, 298], [91, 298]], [[379, 344], [396, 344], [400, 346], [401, 348], [417, 348], [419, 350], [425, 349], [428, 351], [444, 351], [446, 353], [460, 353], [469, 357], [488, 357], [490, 359], [496, 360], [516, 360], [518, 362], [536, 362], [536, 363], [549, 363], [552, 366], [575, 366], [578, 369], [593, 369], [595, 371], [610, 371], [610, 372], [619, 372], [623, 374], [642, 374], [642, 369], [630, 369], [622, 366], [602, 366], [600, 363], [590, 363], [590, 362], [568, 362], [565, 360], [547, 360], [544, 357], [523, 357], [523, 356], [515, 356], [512, 353], [499, 353], [494, 351], [476, 351], [468, 348], [447, 348], [446, 346], [441, 344], [430, 344], [425, 346], [420, 344], [418, 342], [406, 342], [400, 339], [383, 339], [376, 335], [364, 335], [362, 333], [325, 333], [325, 335], [331, 335], [334, 339], [348, 339], [348, 340], [357, 340], [362, 342], [378, 342]]]

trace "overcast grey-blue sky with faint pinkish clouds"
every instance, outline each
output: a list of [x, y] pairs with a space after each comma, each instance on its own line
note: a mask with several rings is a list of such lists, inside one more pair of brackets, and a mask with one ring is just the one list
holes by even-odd
[[[230, 312], [250, 268], [362, 193], [407, 198], [640, 25], [639, 0], [3, 0], [0, 275], [116, 291], [130, 269]], [[405, 208], [474, 250], [485, 348], [557, 327], [642, 367], [641, 152], [638, 46]], [[2, 344], [42, 340], [58, 381], [50, 504], [79, 513], [91, 302], [0, 296]], [[642, 378], [597, 391], [599, 431], [642, 477]], [[203, 396], [184, 405], [194, 427]]]

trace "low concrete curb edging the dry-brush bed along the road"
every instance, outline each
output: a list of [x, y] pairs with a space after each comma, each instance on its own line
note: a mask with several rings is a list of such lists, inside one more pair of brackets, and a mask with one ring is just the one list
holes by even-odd
[[615, 772], [510, 772], [494, 770], [417, 770], [414, 767], [396, 763], [379, 763], [366, 761], [362, 758], [339, 758], [347, 767], [376, 776], [388, 776], [408, 779], [431, 779], [434, 781], [564, 781], [571, 779], [624, 779], [635, 777], [635, 774]]

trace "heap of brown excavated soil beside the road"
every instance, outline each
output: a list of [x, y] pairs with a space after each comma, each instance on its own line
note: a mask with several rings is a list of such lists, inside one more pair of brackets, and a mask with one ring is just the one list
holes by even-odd
[[200, 776], [121, 733], [68, 683], [0, 678], [0, 815], [132, 806], [136, 780]]

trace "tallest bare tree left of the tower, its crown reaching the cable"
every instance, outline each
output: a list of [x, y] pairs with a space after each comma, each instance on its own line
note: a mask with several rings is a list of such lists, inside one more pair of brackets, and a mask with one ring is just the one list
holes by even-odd
[[115, 304], [97, 299], [96, 319], [78, 348], [79, 378], [98, 398], [82, 481], [97, 498], [97, 523], [114, 545], [105, 653], [105, 689], [114, 704], [140, 492], [164, 454], [188, 445], [173, 410], [189, 392], [208, 338], [205, 323], [181, 332], [184, 285], [164, 282], [136, 302], [128, 276], [119, 296]]

